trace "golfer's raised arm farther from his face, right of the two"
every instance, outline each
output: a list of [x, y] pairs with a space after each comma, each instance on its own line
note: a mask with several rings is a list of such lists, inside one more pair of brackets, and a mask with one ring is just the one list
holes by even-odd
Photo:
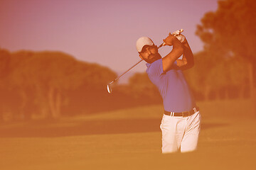
[[194, 60], [193, 60], [193, 52], [191, 51], [191, 47], [188, 45], [188, 41], [185, 39], [184, 42], [182, 42], [183, 45], [183, 57], [182, 60], [177, 60], [177, 68], [175, 69], [190, 69], [194, 65]]

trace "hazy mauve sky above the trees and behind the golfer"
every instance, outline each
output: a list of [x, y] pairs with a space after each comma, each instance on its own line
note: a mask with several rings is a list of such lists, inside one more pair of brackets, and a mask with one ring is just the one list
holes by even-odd
[[[193, 52], [203, 50], [196, 25], [217, 0], [0, 0], [0, 47], [61, 51], [122, 73], [138, 62], [136, 41], [160, 45], [183, 29]], [[162, 47], [164, 57], [171, 47]], [[145, 62], [132, 72], [144, 72]]]

